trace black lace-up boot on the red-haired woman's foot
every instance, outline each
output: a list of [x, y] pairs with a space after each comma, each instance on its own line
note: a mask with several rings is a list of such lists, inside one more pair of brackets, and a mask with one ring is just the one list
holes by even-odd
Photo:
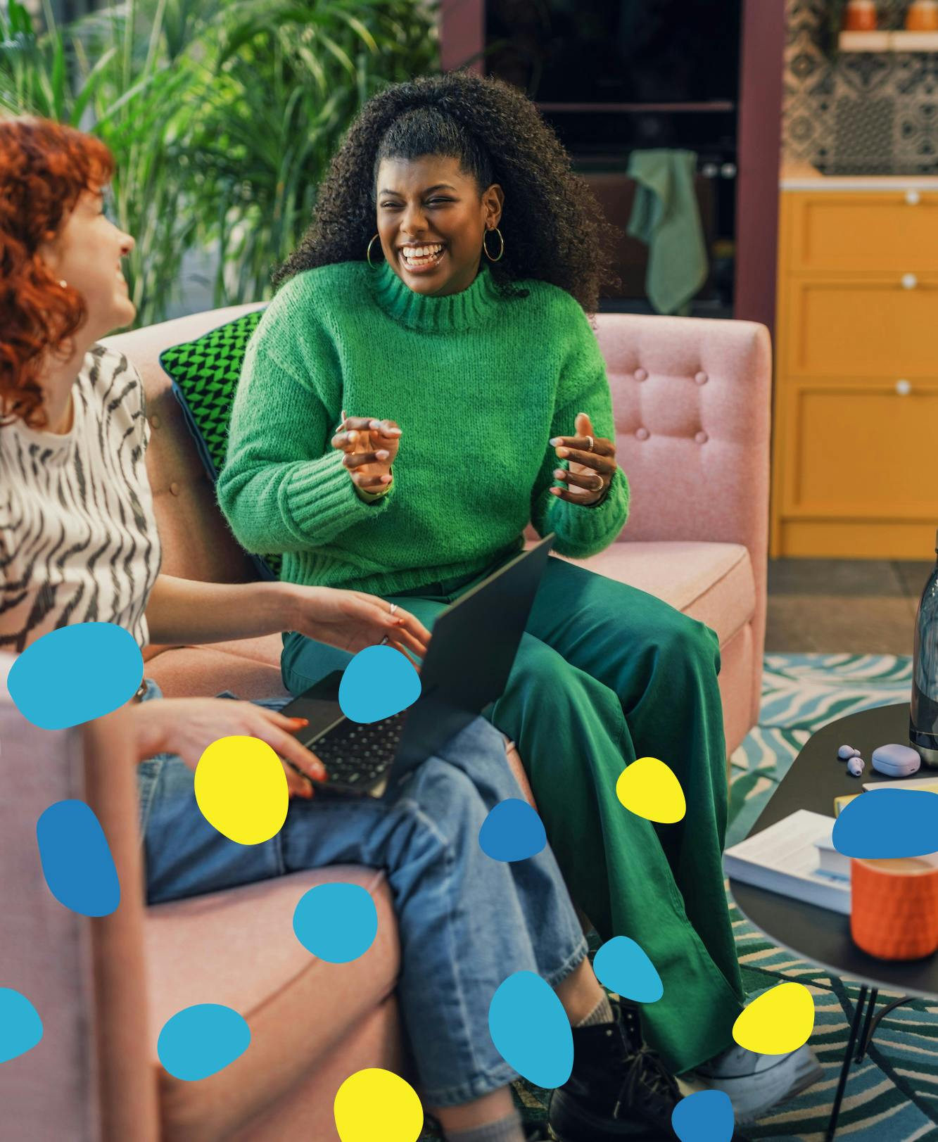
[[558, 1142], [671, 1142], [681, 1091], [642, 1042], [634, 1004], [612, 1000], [612, 1013], [611, 1023], [574, 1028], [574, 1070], [551, 1096], [551, 1133]]

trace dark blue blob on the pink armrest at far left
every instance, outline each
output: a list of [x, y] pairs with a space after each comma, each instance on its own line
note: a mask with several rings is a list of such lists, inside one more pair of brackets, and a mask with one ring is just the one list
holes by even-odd
[[83, 801], [49, 805], [35, 822], [42, 875], [55, 899], [81, 916], [110, 916], [120, 880], [107, 837]]

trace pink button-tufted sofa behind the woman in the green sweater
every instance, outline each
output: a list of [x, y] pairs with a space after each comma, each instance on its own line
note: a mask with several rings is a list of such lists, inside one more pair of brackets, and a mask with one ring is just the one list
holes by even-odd
[[[159, 365], [160, 352], [255, 306], [194, 314], [110, 338], [141, 370], [152, 428], [149, 469], [163, 571], [219, 582], [252, 566], [218, 513]], [[632, 484], [620, 540], [586, 565], [702, 619], [722, 649], [731, 753], [759, 711], [769, 506], [768, 331], [745, 321], [600, 314], [619, 463]], [[282, 693], [280, 638], [174, 648], [147, 666], [166, 694]]]

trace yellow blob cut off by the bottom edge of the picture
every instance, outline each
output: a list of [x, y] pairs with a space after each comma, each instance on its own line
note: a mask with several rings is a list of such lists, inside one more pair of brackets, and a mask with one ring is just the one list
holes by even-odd
[[378, 1067], [356, 1071], [342, 1084], [335, 1116], [342, 1142], [417, 1142], [424, 1128], [417, 1092]]

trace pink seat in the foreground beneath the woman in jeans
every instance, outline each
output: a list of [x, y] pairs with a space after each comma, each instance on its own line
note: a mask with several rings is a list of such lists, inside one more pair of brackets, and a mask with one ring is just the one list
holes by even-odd
[[[369, 950], [348, 964], [311, 955], [292, 931], [294, 909], [318, 884], [364, 887], [378, 912]], [[231, 1065], [189, 1083], [159, 1068], [161, 1136], [227, 1137], [316, 1069], [393, 991], [400, 948], [384, 874], [334, 866], [158, 904], [146, 911], [150, 1034], [193, 1004], [224, 1004], [247, 1020], [251, 1042]]]

